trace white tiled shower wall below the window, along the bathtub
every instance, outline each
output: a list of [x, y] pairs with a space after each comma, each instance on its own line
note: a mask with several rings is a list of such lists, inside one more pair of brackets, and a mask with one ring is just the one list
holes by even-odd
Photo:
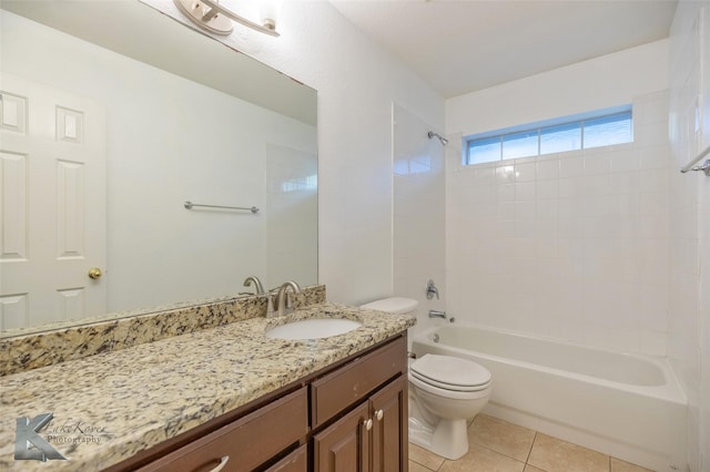
[[668, 96], [659, 92], [633, 100], [630, 144], [463, 166], [460, 136], [452, 138], [449, 314], [665, 355], [667, 130]]

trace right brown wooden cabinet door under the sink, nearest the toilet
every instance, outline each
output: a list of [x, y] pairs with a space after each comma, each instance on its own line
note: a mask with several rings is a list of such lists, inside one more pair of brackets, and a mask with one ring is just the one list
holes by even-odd
[[402, 376], [372, 396], [372, 472], [407, 470], [407, 379]]

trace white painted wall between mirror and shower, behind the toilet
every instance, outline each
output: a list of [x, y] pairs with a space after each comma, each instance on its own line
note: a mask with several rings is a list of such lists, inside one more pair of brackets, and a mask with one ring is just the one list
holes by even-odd
[[326, 1], [284, 2], [278, 30], [225, 42], [318, 91], [318, 279], [333, 301], [393, 295], [392, 103], [440, 130], [444, 102]]

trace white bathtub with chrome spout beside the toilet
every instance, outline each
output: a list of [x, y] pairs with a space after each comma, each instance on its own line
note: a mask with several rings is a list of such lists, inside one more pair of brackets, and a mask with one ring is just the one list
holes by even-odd
[[415, 335], [412, 351], [490, 370], [487, 414], [655, 471], [687, 470], [687, 400], [666, 359], [462, 325]]

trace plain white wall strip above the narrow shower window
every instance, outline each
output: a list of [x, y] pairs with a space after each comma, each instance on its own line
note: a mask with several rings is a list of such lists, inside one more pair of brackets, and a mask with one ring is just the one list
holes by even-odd
[[464, 136], [631, 103], [668, 89], [668, 41], [449, 99], [446, 132]]

